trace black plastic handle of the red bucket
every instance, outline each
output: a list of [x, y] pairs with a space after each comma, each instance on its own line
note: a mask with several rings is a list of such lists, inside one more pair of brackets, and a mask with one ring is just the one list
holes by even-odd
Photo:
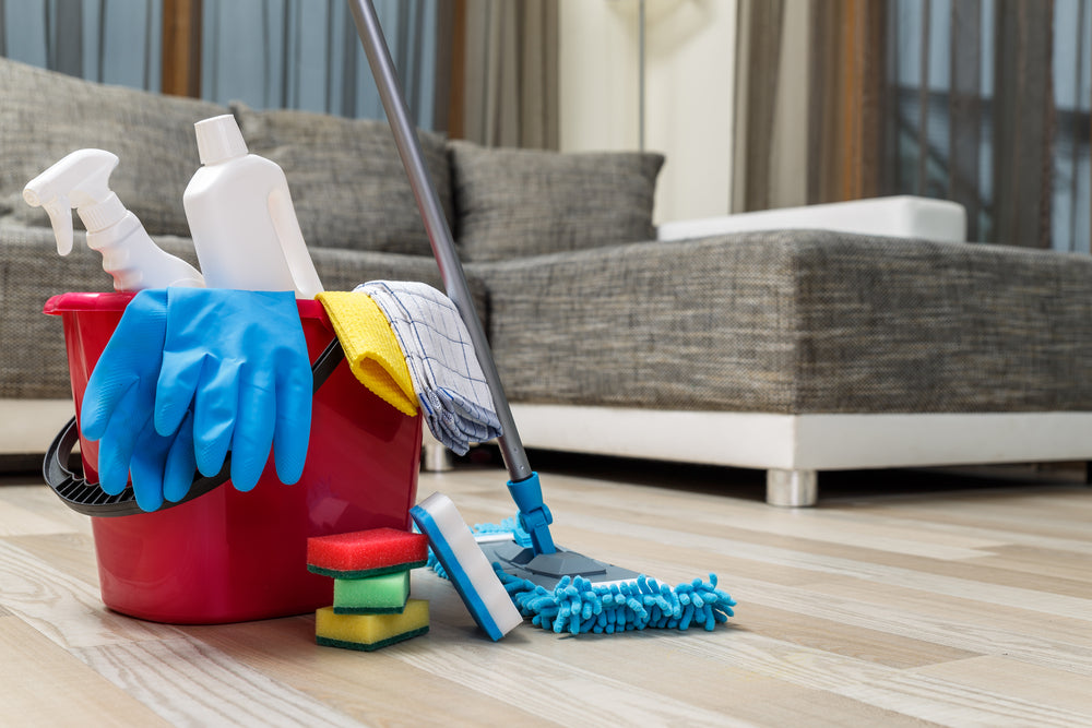
[[[311, 366], [312, 392], [319, 391], [319, 387], [330, 378], [330, 374], [344, 358], [345, 353], [342, 350], [341, 343], [337, 337], [334, 337]], [[68, 421], [68, 425], [61, 428], [49, 445], [49, 450], [46, 451], [46, 458], [41, 465], [41, 475], [46, 479], [46, 485], [57, 493], [66, 505], [84, 515], [111, 517], [144, 513], [136, 505], [136, 497], [132, 488], [126, 488], [117, 496], [109, 496], [98, 487], [97, 482], [87, 482], [83, 476], [76, 475], [68, 468], [66, 464], [71, 458], [72, 450], [79, 441], [80, 428], [76, 426], [75, 417], [73, 417]], [[159, 510], [165, 511], [204, 496], [230, 478], [232, 454], [228, 453], [219, 473], [211, 477], [198, 474], [182, 500], [177, 503], [164, 501]]]

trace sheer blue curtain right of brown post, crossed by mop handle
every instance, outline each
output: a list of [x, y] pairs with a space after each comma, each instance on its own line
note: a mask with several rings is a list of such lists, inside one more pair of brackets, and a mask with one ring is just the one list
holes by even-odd
[[[443, 0], [373, 0], [414, 122], [443, 130], [450, 32]], [[210, 100], [383, 118], [344, 0], [204, 0], [201, 89]], [[443, 107], [439, 107], [440, 100]]]

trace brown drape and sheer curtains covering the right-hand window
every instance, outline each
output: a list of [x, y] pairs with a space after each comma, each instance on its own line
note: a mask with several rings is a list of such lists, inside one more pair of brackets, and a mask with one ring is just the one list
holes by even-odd
[[1088, 0], [739, 0], [732, 208], [954, 200], [1089, 250]]

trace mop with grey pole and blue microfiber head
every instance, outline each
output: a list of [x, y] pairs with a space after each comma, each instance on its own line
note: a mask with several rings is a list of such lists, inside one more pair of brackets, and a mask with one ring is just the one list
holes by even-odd
[[[735, 605], [731, 596], [716, 588], [714, 574], [709, 575], [708, 583], [697, 578], [670, 587], [638, 572], [554, 544], [549, 532], [554, 517], [543, 499], [538, 474], [531, 469], [520, 441], [500, 374], [474, 310], [451, 230], [426, 171], [420, 143], [411, 122], [375, 5], [371, 0], [349, 0], [349, 7], [440, 268], [440, 278], [466, 325], [500, 422], [501, 434], [497, 438], [497, 445], [508, 469], [508, 489], [519, 512], [510, 530], [505, 527], [478, 528], [479, 532], [489, 532], [482, 534], [478, 546], [494, 564], [498, 578], [520, 613], [544, 629], [571, 633], [613, 633], [645, 628], [686, 630], [691, 624], [714, 629], [733, 616], [732, 607]], [[450, 533], [446, 535], [434, 527], [436, 521], [430, 513], [418, 505], [412, 515], [434, 545], [447, 546]], [[442, 553], [448, 549], [434, 551]], [[465, 590], [474, 592], [475, 585], [462, 581], [465, 574], [460, 563], [449, 561], [440, 566], [450, 576], [460, 580], [455, 585], [461, 595]], [[472, 613], [479, 620], [474, 608]], [[490, 636], [499, 639], [496, 631], [490, 632]]]

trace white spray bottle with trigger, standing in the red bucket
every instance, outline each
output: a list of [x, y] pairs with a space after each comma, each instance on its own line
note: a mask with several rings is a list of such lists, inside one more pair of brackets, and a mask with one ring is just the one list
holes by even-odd
[[87, 228], [87, 247], [103, 254], [103, 270], [114, 277], [115, 290], [203, 286], [201, 274], [161, 250], [110, 190], [117, 166], [118, 157], [109, 152], [78, 150], [32, 179], [23, 199], [49, 214], [61, 255], [72, 252], [74, 207]]

